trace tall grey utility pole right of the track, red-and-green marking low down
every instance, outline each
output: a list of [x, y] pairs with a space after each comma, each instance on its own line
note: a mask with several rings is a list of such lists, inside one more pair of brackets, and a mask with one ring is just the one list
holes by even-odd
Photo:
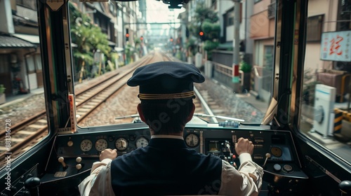
[[239, 30], [240, 30], [240, 1], [232, 0], [234, 2], [234, 39], [233, 39], [233, 92], [239, 92]]

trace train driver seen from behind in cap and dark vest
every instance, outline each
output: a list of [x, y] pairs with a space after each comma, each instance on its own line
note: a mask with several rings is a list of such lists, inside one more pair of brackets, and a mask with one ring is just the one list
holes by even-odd
[[150, 142], [119, 157], [116, 149], [102, 151], [79, 184], [81, 195], [258, 195], [263, 169], [251, 160], [251, 141], [235, 144], [239, 169], [185, 146], [183, 130], [195, 109], [193, 83], [203, 82], [192, 64], [156, 62], [136, 69], [127, 84], [139, 85], [138, 112], [150, 128]]

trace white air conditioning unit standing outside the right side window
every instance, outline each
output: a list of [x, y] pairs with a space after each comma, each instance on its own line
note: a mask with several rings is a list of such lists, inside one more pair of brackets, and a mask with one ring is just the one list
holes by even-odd
[[333, 136], [336, 88], [317, 84], [314, 93], [314, 120], [312, 130], [324, 137]]

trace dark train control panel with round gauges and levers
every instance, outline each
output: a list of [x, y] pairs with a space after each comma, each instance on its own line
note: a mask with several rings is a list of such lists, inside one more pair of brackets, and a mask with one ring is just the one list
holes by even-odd
[[[240, 137], [253, 142], [252, 159], [265, 170], [263, 181], [268, 187], [274, 190], [275, 186], [282, 185], [286, 188], [303, 186], [307, 176], [301, 170], [290, 132], [226, 127], [186, 127], [184, 131], [187, 147], [198, 153], [216, 155], [237, 168], [240, 162], [234, 146]], [[145, 127], [58, 135], [46, 174], [41, 177], [40, 190], [67, 194], [70, 188], [69, 193], [77, 192], [77, 185], [90, 174], [93, 162], [99, 160], [105, 148], [116, 148], [118, 155], [123, 155], [147, 146], [149, 141], [150, 131]], [[62, 186], [65, 189], [60, 188]]]

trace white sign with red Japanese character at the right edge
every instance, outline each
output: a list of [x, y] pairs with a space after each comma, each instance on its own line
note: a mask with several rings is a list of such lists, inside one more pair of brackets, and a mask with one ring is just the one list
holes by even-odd
[[321, 59], [351, 62], [351, 31], [333, 31], [322, 34]]

